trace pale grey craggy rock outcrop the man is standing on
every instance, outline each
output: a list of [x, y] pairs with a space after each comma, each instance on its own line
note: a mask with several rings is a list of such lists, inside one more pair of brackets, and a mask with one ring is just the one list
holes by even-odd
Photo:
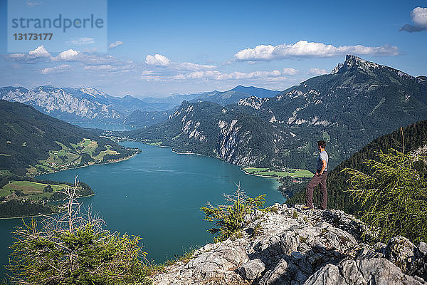
[[154, 284], [427, 284], [426, 243], [395, 237], [371, 246], [361, 236], [373, 235], [351, 215], [300, 207], [254, 211], [243, 238], [206, 244]]

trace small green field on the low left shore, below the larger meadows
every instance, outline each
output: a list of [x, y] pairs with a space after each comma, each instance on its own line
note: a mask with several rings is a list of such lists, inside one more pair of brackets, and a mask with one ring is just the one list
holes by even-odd
[[63, 188], [69, 187], [65, 184], [51, 185], [53, 192], [43, 192], [44, 188], [48, 186], [44, 183], [31, 182], [31, 181], [14, 181], [12, 180], [8, 184], [4, 185], [0, 189], [0, 197], [5, 197], [11, 193], [21, 192], [22, 199], [39, 200], [44, 197], [49, 198], [54, 192], [60, 191]]

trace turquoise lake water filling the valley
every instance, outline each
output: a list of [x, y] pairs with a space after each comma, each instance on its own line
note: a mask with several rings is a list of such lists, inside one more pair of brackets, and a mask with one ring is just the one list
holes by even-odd
[[[139, 235], [148, 258], [162, 262], [190, 247], [212, 242], [200, 207], [206, 202], [223, 204], [223, 193], [236, 191], [240, 182], [246, 195], [266, 194], [266, 205], [285, 202], [279, 183], [270, 178], [246, 175], [240, 167], [201, 155], [179, 155], [167, 147], [125, 142], [142, 152], [129, 160], [92, 165], [43, 175], [41, 179], [73, 182], [74, 175], [88, 183], [95, 196], [81, 199], [92, 205], [110, 231]], [[0, 220], [4, 249], [12, 242], [11, 231], [20, 219]], [[7, 251], [0, 256], [6, 264]], [[2, 271], [4, 272], [4, 270]]]

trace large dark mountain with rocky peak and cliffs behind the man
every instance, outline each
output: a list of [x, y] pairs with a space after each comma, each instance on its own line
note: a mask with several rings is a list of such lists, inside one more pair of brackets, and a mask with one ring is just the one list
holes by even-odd
[[130, 135], [243, 166], [311, 169], [317, 140], [327, 141], [334, 167], [374, 138], [426, 119], [426, 81], [349, 55], [331, 74], [273, 98], [184, 102], [166, 122]]

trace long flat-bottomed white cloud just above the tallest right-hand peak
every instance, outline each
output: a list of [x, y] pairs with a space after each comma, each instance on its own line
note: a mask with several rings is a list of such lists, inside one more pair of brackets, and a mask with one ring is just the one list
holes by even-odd
[[298, 41], [294, 44], [278, 46], [255, 46], [238, 51], [234, 55], [237, 61], [272, 61], [282, 58], [310, 58], [344, 56], [348, 53], [369, 56], [397, 56], [399, 48], [396, 46], [332, 46], [325, 43]]

